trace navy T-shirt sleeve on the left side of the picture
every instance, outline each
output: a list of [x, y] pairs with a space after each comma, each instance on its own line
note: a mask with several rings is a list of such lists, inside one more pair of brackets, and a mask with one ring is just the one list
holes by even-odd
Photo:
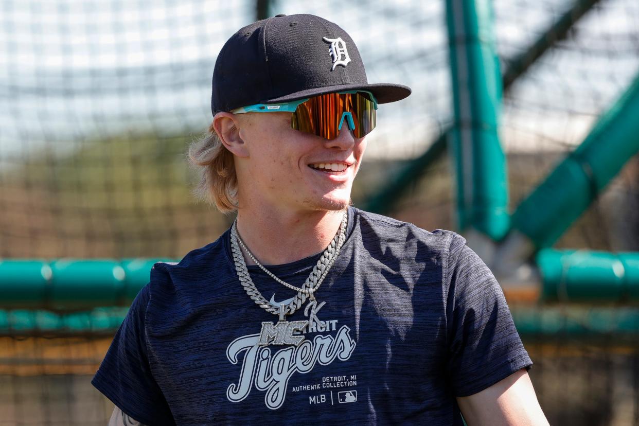
[[149, 299], [147, 284], [135, 296], [91, 384], [137, 422], [174, 425], [149, 367], [144, 328]]

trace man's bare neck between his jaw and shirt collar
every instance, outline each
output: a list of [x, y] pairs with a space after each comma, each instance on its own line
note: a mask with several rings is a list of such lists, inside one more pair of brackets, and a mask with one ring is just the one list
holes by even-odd
[[[333, 240], [344, 211], [238, 209], [238, 233], [263, 265], [295, 262], [323, 252]], [[247, 264], [254, 264], [248, 255]]]

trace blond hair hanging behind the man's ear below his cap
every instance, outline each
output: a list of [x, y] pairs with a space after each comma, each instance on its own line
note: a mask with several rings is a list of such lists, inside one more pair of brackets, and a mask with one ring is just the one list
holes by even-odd
[[237, 176], [233, 154], [226, 149], [213, 129], [189, 145], [189, 162], [196, 167], [200, 181], [192, 190], [193, 195], [207, 204], [214, 205], [224, 214], [237, 209]]

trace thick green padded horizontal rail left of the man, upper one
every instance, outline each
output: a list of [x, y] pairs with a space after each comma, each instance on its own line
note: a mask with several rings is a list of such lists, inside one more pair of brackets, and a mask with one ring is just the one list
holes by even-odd
[[0, 308], [128, 306], [166, 259], [0, 260]]

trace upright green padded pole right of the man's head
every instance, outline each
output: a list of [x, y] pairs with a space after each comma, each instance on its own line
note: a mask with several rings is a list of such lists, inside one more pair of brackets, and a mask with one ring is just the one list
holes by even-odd
[[491, 4], [450, 0], [446, 17], [455, 113], [449, 146], [456, 163], [458, 225], [501, 240], [510, 220], [498, 137], [502, 81]]

